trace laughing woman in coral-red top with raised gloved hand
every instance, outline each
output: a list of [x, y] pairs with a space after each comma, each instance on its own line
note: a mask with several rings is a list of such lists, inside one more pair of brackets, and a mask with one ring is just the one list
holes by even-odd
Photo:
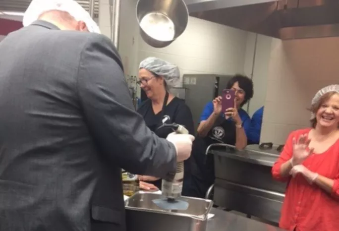
[[290, 231], [339, 231], [339, 85], [321, 89], [312, 128], [289, 134], [273, 177], [287, 181], [279, 226]]

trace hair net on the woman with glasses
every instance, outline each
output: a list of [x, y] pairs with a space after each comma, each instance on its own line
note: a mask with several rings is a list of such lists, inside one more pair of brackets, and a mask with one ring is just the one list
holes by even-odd
[[160, 58], [146, 58], [140, 62], [139, 69], [140, 68], [145, 68], [157, 75], [163, 76], [169, 87], [175, 86], [180, 78], [179, 68]]

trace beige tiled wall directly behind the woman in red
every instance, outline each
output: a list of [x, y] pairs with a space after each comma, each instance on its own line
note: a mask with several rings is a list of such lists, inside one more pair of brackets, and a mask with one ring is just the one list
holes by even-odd
[[309, 126], [311, 100], [339, 83], [339, 38], [272, 40], [261, 142], [283, 144]]

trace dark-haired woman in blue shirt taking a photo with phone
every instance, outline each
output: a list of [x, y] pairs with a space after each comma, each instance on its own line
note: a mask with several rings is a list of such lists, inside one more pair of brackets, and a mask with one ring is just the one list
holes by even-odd
[[188, 196], [204, 198], [214, 183], [214, 156], [205, 155], [209, 145], [225, 143], [244, 149], [251, 125], [251, 118], [241, 108], [253, 97], [253, 82], [243, 75], [231, 78], [226, 89], [235, 91], [235, 107], [222, 113], [221, 97], [208, 103], [201, 115], [198, 136], [192, 147], [192, 175]]

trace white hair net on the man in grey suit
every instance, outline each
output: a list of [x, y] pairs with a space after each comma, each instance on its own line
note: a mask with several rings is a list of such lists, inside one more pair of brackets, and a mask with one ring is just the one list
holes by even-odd
[[89, 32], [100, 34], [100, 29], [89, 13], [75, 0], [32, 0], [24, 13], [22, 24], [28, 26], [38, 20], [39, 16], [50, 10], [69, 13], [77, 21], [84, 21]]

